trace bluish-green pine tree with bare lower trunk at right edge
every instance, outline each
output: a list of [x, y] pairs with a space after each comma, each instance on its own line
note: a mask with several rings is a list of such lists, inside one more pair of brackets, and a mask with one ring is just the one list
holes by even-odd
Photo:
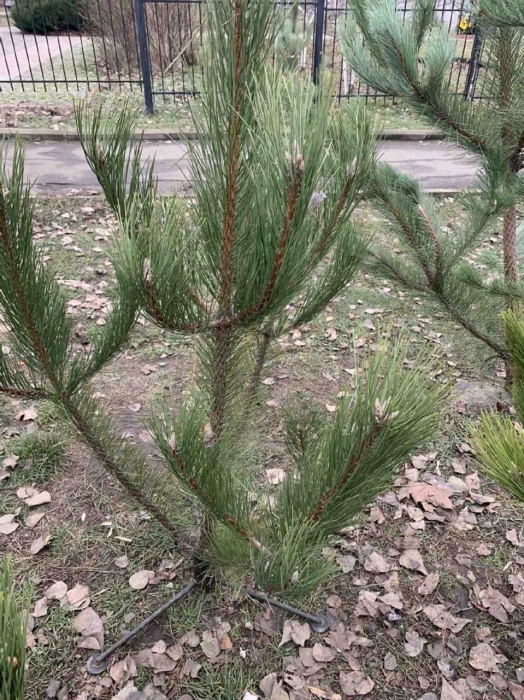
[[[491, 59], [483, 100], [465, 101], [449, 81], [455, 40], [435, 20], [432, 0], [416, 0], [403, 21], [394, 0], [350, 0], [344, 33], [348, 63], [370, 87], [395, 95], [480, 162], [479, 192], [465, 198], [466, 224], [442, 221], [420, 185], [388, 165], [375, 171], [371, 195], [398, 236], [403, 255], [377, 247], [371, 265], [436, 300], [499, 357], [508, 359], [500, 312], [522, 296], [517, 203], [524, 192], [524, 41], [522, 0], [480, 0], [475, 21]], [[520, 18], [520, 19], [519, 19]], [[520, 22], [520, 24], [519, 24]], [[363, 41], [364, 40], [364, 41]], [[478, 246], [503, 216], [503, 259], [480, 258]], [[451, 230], [450, 230], [451, 229]]]

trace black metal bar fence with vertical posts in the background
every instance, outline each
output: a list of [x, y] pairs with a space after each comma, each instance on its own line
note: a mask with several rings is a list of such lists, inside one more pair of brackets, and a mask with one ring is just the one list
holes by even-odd
[[[29, 11], [24, 31], [15, 26], [12, 11], [6, 12], [5, 26], [0, 26], [3, 91], [136, 90], [143, 92], [148, 111], [155, 100], [168, 102], [198, 92], [205, 0], [78, 0], [76, 20], [60, 15], [61, 0], [14, 1]], [[459, 31], [468, 5], [469, 0], [436, 0], [434, 11], [456, 36], [450, 89], [477, 99], [482, 96], [478, 77], [486, 58], [480, 35]], [[49, 17], [50, 7], [55, 9]], [[397, 10], [408, 18], [412, 1], [397, 0]], [[42, 26], [45, 12], [47, 24]], [[300, 57], [303, 71], [316, 77], [321, 63], [332, 70], [339, 99], [383, 98], [359, 81], [342, 56], [346, 0], [300, 0], [299, 17], [307, 37]], [[51, 31], [58, 25], [60, 31]]]

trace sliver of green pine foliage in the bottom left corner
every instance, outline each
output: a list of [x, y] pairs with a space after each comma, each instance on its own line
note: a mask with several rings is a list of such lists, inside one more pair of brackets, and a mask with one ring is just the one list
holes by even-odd
[[0, 567], [0, 700], [24, 700], [26, 624], [11, 561], [4, 557]]

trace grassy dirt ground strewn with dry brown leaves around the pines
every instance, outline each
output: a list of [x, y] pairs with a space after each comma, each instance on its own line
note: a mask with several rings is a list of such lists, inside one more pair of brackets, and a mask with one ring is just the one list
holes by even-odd
[[[439, 206], [450, 220], [462, 216], [457, 201]], [[380, 229], [368, 207], [359, 216]], [[107, 314], [113, 227], [97, 198], [38, 203], [35, 238], [68, 295], [79, 344]], [[498, 248], [498, 235], [489, 245]], [[52, 406], [1, 399], [10, 476], [0, 516], [15, 514], [17, 527], [0, 534], [0, 547], [31, 597], [28, 700], [523, 700], [523, 509], [478, 473], [468, 443], [479, 411], [507, 400], [503, 368], [442, 311], [360, 274], [315, 323], [284, 338], [265, 375], [261, 473], [286, 467], [282, 407], [305, 400], [330, 412], [351, 385], [354, 347], [357, 357], [372, 351], [386, 330], [407, 334], [414, 352], [436, 350], [452, 402], [433, 443], [325, 552], [338, 573], [307, 607], [327, 610], [330, 630], [315, 634], [234, 589], [194, 591], [98, 677], [85, 669], [93, 649], [190, 580], [187, 547], [136, 508]], [[95, 389], [115, 429], [154, 460], [143, 419], [161, 400], [176, 406], [194, 371], [191, 339], [144, 321]], [[30, 487], [36, 493], [20, 490]]]

